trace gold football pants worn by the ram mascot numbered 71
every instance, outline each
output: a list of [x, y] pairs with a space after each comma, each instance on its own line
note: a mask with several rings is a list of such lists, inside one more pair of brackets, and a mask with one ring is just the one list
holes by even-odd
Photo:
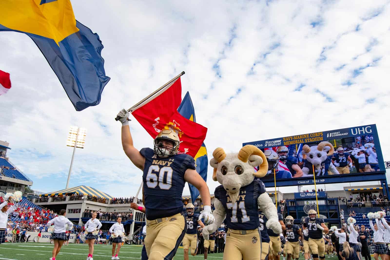
[[259, 260], [262, 255], [261, 247], [259, 230], [231, 230], [229, 228], [226, 234], [223, 260]]

